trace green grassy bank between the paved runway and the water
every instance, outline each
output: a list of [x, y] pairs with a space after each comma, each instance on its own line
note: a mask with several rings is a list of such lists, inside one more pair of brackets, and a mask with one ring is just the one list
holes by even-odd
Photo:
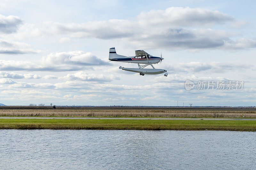
[[0, 129], [256, 131], [252, 120], [0, 119]]

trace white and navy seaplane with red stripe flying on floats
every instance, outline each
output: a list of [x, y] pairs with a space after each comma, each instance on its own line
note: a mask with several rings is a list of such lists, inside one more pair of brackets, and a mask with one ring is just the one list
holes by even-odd
[[[145, 74], [162, 74], [167, 77], [168, 73], [164, 69], [156, 69], [152, 64], [161, 63], [164, 58], [161, 57], [154, 57], [143, 50], [136, 50], [135, 56], [129, 57], [124, 55], [118, 55], [116, 53], [115, 47], [109, 49], [109, 57], [108, 60], [110, 61], [118, 61], [118, 62], [128, 62], [128, 63], [137, 63], [139, 68], [125, 68], [120, 66], [119, 69], [125, 71], [131, 71], [140, 73], [140, 75]], [[152, 68], [145, 68], [147, 66], [151, 66]]]

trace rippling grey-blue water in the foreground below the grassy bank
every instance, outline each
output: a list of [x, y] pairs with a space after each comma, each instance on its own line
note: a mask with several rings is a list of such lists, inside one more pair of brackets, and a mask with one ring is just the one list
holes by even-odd
[[256, 132], [0, 130], [0, 169], [255, 169]]

